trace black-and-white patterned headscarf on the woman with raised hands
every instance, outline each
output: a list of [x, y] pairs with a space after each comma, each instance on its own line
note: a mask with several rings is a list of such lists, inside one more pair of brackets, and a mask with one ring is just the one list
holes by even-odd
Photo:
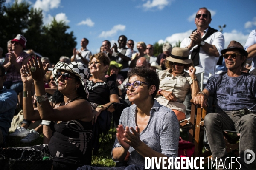
[[66, 64], [64, 62], [58, 62], [52, 71], [52, 76], [55, 80], [56, 85], [58, 85], [57, 73], [60, 72], [61, 70], [69, 71], [79, 77], [82, 85], [84, 86], [84, 90], [85, 90], [85, 92], [87, 94], [87, 98], [88, 98], [89, 92], [86, 88], [86, 81], [89, 77], [88, 68], [85, 65], [83, 65], [81, 62], [74, 61], [69, 64]]

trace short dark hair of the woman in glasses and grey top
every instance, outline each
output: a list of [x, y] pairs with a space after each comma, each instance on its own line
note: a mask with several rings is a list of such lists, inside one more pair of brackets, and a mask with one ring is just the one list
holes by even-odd
[[139, 76], [145, 79], [145, 82], [148, 83], [148, 88], [151, 85], [156, 86], [156, 90], [153, 94], [151, 94], [152, 99], [157, 95], [157, 91], [159, 89], [160, 80], [156, 71], [151, 68], [145, 67], [134, 67], [130, 71], [128, 71], [128, 78], [130, 79], [132, 76]]

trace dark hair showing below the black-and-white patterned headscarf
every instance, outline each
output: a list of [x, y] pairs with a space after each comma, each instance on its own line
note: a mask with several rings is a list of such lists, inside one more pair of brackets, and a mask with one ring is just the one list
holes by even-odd
[[[81, 80], [79, 79], [78, 76], [75, 76], [75, 77], [76, 77], [76, 81], [81, 82]], [[78, 95], [81, 96], [83, 99], [85, 99], [85, 100], [88, 101], [88, 99], [87, 99], [87, 94], [86, 94], [86, 92], [85, 92], [85, 90], [84, 90], [84, 86], [83, 86], [82, 84], [79, 86], [79, 88], [77, 88], [76, 94], [78, 94]], [[60, 102], [63, 102], [63, 101], [64, 101], [64, 95], [63, 95], [60, 91], [58, 91], [58, 89], [57, 89], [57, 90], [52, 94], [51, 99], [52, 99], [52, 102], [53, 102], [53, 103], [60, 103]]]

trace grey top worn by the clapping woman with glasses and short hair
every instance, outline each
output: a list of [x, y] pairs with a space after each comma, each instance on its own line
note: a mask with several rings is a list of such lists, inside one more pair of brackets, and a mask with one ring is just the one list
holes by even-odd
[[[135, 104], [125, 108], [120, 117], [119, 125], [122, 124], [124, 128], [128, 126], [135, 129], [136, 110], [137, 107]], [[175, 159], [178, 156], [179, 136], [179, 123], [175, 113], [171, 109], [160, 105], [154, 99], [148, 125], [140, 133], [140, 140], [153, 150]], [[117, 139], [113, 145], [113, 149], [115, 147], [121, 147]], [[129, 148], [129, 152], [131, 154], [128, 161], [129, 165], [134, 164], [145, 166], [145, 158], [137, 153], [133, 147]], [[113, 159], [113, 161], [115, 160]]]

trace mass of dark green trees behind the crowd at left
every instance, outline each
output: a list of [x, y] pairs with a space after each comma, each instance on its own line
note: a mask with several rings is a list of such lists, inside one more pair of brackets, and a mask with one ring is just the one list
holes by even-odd
[[64, 21], [55, 19], [44, 26], [41, 9], [30, 8], [29, 3], [22, 1], [12, 5], [4, 5], [0, 0], [0, 47], [7, 52], [7, 42], [22, 34], [27, 39], [26, 49], [33, 49], [43, 56], [50, 58], [51, 62], [58, 62], [59, 57], [72, 55], [76, 47], [76, 37], [73, 31], [67, 32], [70, 27]]

